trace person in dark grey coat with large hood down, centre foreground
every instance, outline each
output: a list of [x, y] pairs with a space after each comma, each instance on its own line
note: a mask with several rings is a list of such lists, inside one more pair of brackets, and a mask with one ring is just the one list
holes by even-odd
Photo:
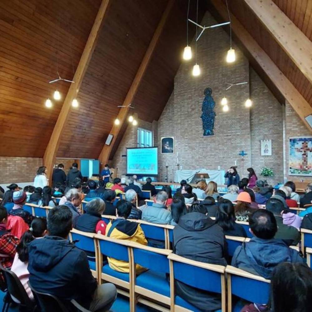
[[[173, 229], [174, 252], [182, 257], [222, 266], [226, 245], [223, 230], [206, 216], [206, 209], [193, 205]], [[176, 281], [176, 293], [201, 311], [221, 309], [221, 295]]]

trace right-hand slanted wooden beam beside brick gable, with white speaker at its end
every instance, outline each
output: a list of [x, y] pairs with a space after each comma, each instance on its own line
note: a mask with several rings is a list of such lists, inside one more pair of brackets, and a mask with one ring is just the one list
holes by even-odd
[[[227, 8], [223, 2], [211, 0], [211, 3], [220, 16], [224, 20], [228, 20]], [[280, 93], [290, 103], [307, 128], [312, 132], [311, 127], [305, 120], [306, 116], [312, 114], [312, 108], [309, 103], [234, 16], [232, 16], [232, 30], [238, 40], [241, 41], [242, 45], [245, 46], [246, 50], [250, 53], [251, 57], [253, 57], [261, 69], [266, 72]]]

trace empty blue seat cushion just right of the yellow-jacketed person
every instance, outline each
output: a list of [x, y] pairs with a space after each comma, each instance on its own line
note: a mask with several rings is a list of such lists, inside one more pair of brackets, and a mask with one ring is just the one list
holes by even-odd
[[136, 285], [170, 297], [170, 285], [166, 273], [146, 271], [136, 277]]

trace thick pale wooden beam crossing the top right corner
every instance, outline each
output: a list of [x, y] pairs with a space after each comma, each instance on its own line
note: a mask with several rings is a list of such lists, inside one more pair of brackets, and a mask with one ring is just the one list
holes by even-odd
[[272, 0], [244, 0], [295, 65], [312, 83], [312, 42]]

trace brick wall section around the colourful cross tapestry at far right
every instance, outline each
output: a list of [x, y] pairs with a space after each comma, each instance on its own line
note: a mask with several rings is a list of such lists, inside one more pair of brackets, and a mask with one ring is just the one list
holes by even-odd
[[302, 176], [289, 176], [288, 175], [288, 160], [289, 160], [289, 138], [296, 136], [312, 136], [311, 131], [306, 127], [306, 125], [301, 121], [300, 117], [297, 115], [295, 110], [290, 106], [289, 102], [285, 103], [285, 170], [286, 177], [288, 180], [303, 182], [312, 182], [312, 178], [302, 177]]

